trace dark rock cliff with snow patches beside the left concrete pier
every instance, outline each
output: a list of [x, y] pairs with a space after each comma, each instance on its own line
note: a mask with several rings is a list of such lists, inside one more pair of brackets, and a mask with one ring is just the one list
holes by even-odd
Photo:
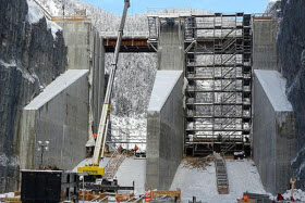
[[66, 48], [62, 33], [51, 29], [45, 17], [29, 21], [26, 0], [0, 0], [0, 4], [1, 193], [16, 190], [19, 183], [21, 110], [65, 71]]

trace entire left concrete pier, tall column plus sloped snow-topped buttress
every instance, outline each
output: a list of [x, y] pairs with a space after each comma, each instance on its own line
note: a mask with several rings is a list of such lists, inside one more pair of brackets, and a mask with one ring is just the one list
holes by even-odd
[[[19, 137], [21, 169], [38, 168], [38, 141], [49, 141], [44, 165], [73, 169], [86, 157], [97, 132], [105, 91], [105, 51], [89, 20], [58, 22], [68, 47], [68, 69], [22, 112]], [[78, 150], [74, 150], [78, 149]]]

